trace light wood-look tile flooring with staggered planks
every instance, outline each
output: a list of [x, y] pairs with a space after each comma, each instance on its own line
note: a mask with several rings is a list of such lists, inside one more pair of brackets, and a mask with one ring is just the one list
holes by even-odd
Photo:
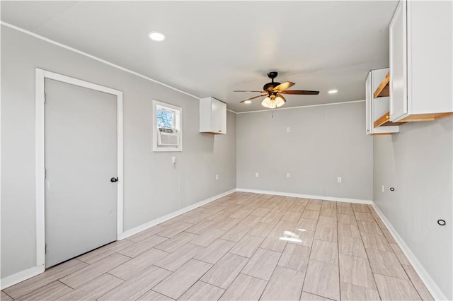
[[1, 300], [432, 300], [372, 206], [236, 192]]

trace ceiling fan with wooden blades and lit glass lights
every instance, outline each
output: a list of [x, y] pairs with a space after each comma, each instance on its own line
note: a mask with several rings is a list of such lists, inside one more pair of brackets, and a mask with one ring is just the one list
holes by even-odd
[[263, 91], [253, 91], [253, 90], [234, 90], [233, 92], [259, 92], [261, 93], [258, 96], [253, 96], [253, 98], [247, 98], [242, 100], [244, 103], [251, 103], [251, 100], [255, 98], [261, 98], [266, 96], [266, 98], [261, 102], [263, 107], [268, 107], [270, 109], [275, 109], [275, 107], [281, 107], [285, 104], [286, 100], [282, 94], [293, 94], [293, 95], [318, 95], [319, 91], [309, 91], [309, 90], [287, 90], [287, 88], [292, 87], [295, 83], [290, 81], [285, 81], [285, 83], [274, 82], [274, 78], [278, 75], [277, 71], [270, 71], [268, 77], [272, 80], [270, 83], [266, 83], [263, 86]]

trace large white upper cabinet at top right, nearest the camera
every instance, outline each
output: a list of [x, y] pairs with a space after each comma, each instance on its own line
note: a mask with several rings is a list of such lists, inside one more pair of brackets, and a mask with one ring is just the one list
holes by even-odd
[[452, 1], [400, 1], [390, 23], [390, 120], [453, 112]]

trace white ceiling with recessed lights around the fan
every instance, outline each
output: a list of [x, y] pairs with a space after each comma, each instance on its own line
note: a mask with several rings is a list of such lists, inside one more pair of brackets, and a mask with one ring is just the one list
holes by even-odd
[[[236, 112], [265, 110], [268, 71], [293, 90], [285, 107], [365, 99], [370, 69], [389, 64], [396, 1], [1, 1], [1, 20]], [[151, 30], [166, 41], [151, 42]], [[328, 90], [338, 89], [336, 95]]]

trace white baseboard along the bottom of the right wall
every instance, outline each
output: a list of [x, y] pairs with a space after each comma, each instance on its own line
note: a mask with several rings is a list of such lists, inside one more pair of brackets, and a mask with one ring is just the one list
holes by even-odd
[[406, 255], [413, 269], [418, 273], [418, 276], [420, 276], [420, 279], [423, 281], [423, 283], [425, 283], [425, 286], [430, 291], [432, 297], [434, 297], [435, 300], [448, 300], [447, 297], [445, 297], [445, 295], [442, 293], [442, 290], [440, 290], [440, 288], [437, 286], [435, 281], [432, 280], [430, 274], [425, 270], [425, 268], [423, 268], [423, 265], [420, 264], [420, 261], [418, 261], [417, 257], [415, 257], [415, 255], [412, 253], [411, 249], [409, 249], [403, 238], [399, 236], [393, 225], [391, 225], [389, 220], [387, 220], [387, 218], [384, 216], [384, 213], [382, 213], [376, 203], [373, 202], [372, 206], [377, 212], [379, 218], [381, 218], [384, 225], [386, 225], [386, 228], [390, 231], [391, 235], [393, 235], [396, 242], [398, 242], [399, 247], [403, 251], [404, 255]]

